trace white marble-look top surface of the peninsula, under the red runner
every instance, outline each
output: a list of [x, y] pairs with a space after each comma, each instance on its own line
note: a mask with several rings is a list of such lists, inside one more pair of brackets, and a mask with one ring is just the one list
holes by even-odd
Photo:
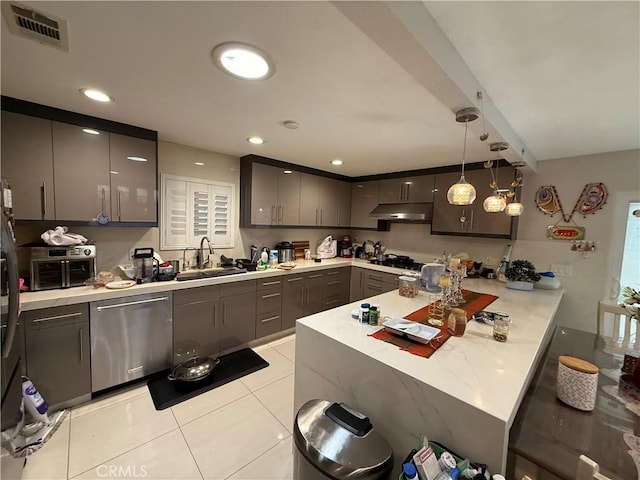
[[[419, 357], [369, 337], [381, 327], [360, 324], [350, 316], [362, 301], [302, 318], [298, 324], [510, 426], [552, 331], [563, 291], [510, 290], [504, 283], [486, 279], [465, 279], [463, 287], [498, 296], [487, 310], [510, 315], [512, 324], [506, 343], [493, 340], [491, 326], [470, 321], [464, 336], [451, 337], [431, 358]], [[392, 291], [367, 301], [379, 303], [383, 316], [402, 317], [424, 307], [428, 294], [420, 292], [415, 298], [405, 298]]]

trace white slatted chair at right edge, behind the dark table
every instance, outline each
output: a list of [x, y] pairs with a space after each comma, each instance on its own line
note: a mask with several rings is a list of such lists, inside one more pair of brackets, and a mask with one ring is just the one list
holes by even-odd
[[623, 355], [640, 351], [640, 335], [636, 322], [618, 305], [598, 303], [598, 335], [604, 338], [605, 351]]

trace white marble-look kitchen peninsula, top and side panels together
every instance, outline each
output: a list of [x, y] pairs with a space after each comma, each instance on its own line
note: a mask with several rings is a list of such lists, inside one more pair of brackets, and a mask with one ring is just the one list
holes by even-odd
[[[470, 321], [431, 358], [369, 335], [380, 327], [358, 323], [360, 302], [298, 320], [294, 411], [313, 398], [345, 402], [365, 413], [391, 445], [394, 471], [421, 433], [460, 455], [504, 472], [509, 429], [550, 336], [562, 290], [508, 290], [503, 283], [467, 279], [469, 290], [498, 296], [488, 309], [506, 312], [509, 339], [499, 343], [489, 325]], [[397, 291], [369, 299], [382, 315], [403, 317], [424, 307]]]

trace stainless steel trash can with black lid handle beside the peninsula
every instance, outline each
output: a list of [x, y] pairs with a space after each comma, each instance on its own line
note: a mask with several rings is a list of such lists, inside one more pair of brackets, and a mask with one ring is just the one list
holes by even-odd
[[294, 480], [386, 479], [391, 447], [365, 415], [344, 403], [310, 400], [293, 426]]

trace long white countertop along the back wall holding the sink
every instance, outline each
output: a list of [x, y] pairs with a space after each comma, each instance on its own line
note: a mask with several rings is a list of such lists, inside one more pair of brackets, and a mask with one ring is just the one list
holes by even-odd
[[[76, 303], [93, 302], [97, 300], [110, 300], [113, 298], [142, 295], [145, 293], [158, 293], [172, 290], [181, 290], [184, 288], [203, 287], [207, 285], [220, 285], [229, 282], [256, 280], [260, 278], [281, 275], [295, 275], [298, 273], [309, 272], [313, 270], [345, 267], [351, 265], [367, 268], [370, 270], [396, 273], [398, 275], [403, 272], [402, 269], [373, 265], [365, 260], [355, 260], [351, 258], [323, 259], [320, 263], [316, 263], [313, 260], [297, 260], [296, 266], [292, 270], [268, 269], [259, 272], [246, 272], [235, 275], [203, 278], [198, 280], [186, 280], [180, 282], [178, 282], [177, 280], [172, 280], [170, 282], [152, 282], [118, 290], [110, 290], [104, 287], [72, 287], [55, 290], [43, 290], [40, 292], [24, 292], [20, 294], [20, 301], [22, 303], [22, 310], [37, 310], [40, 308], [72, 305]], [[0, 299], [0, 305], [2, 306], [4, 312], [6, 310], [7, 297], [2, 297]]]

